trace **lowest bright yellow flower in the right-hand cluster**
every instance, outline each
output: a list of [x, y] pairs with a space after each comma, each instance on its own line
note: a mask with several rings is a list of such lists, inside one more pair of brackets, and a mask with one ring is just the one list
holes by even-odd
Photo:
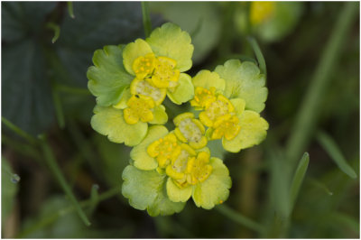
[[227, 140], [232, 140], [236, 137], [236, 135], [241, 130], [241, 127], [238, 125], [239, 119], [236, 115], [224, 115], [223, 117], [219, 117], [218, 120], [213, 125], [215, 129], [210, 138], [220, 139], [222, 136], [225, 136]]

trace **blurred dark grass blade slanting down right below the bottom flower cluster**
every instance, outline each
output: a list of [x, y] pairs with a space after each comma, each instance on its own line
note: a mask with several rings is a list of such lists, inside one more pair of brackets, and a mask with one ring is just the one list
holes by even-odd
[[242, 214], [236, 212], [232, 208], [228, 208], [224, 204], [218, 205], [215, 209], [218, 210], [218, 212], [220, 212], [224, 216], [228, 217], [229, 219], [235, 221], [236, 223], [242, 226], [246, 226], [252, 230], [255, 230], [256, 232], [264, 231], [264, 226], [256, 223], [254, 220], [248, 217], [243, 216]]

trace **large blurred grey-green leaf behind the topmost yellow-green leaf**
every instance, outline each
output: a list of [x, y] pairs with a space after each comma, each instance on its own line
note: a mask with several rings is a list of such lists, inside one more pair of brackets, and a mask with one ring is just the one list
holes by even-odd
[[194, 53], [192, 60], [204, 60], [219, 42], [221, 18], [218, 3], [209, 2], [150, 2], [151, 12], [162, 16], [193, 35]]

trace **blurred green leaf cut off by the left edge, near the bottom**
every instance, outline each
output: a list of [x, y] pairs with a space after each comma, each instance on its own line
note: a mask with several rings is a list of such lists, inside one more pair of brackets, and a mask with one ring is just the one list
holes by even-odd
[[10, 213], [13, 211], [14, 198], [18, 191], [17, 182], [12, 181], [12, 175], [14, 174], [10, 168], [9, 163], [3, 157], [1, 162], [1, 219], [3, 227]]

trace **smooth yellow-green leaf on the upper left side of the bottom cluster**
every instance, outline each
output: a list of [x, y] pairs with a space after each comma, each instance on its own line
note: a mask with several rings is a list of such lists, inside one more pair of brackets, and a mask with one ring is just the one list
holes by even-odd
[[130, 157], [134, 160], [134, 166], [141, 170], [154, 170], [158, 167], [158, 162], [147, 153], [149, 144], [168, 134], [168, 130], [162, 125], [149, 127], [148, 133], [141, 143], [136, 145], [130, 152]]

